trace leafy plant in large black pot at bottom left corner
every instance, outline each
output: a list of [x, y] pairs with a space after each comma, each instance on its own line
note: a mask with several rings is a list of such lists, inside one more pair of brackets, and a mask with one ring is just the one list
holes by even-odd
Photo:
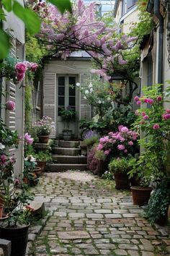
[[22, 179], [14, 178], [14, 158], [1, 157], [1, 188], [4, 189], [4, 212], [0, 221], [0, 238], [12, 242], [12, 256], [24, 255], [30, 226], [30, 210], [24, 208], [33, 197]]

